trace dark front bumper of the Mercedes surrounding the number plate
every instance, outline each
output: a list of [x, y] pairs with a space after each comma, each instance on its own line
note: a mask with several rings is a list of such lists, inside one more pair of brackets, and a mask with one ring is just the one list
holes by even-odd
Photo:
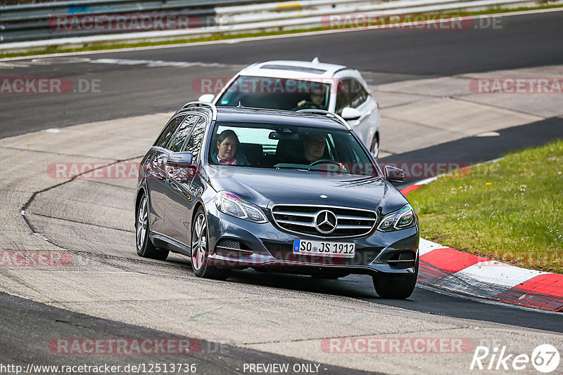
[[[315, 239], [281, 230], [273, 223], [257, 224], [235, 218], [206, 205], [210, 265], [220, 268], [259, 268], [281, 272], [314, 274], [410, 275], [418, 257], [418, 225], [395, 232], [372, 230], [355, 238], [327, 238], [327, 241], [354, 242], [354, 258], [293, 254], [293, 239]], [[238, 243], [239, 249], [233, 244]], [[225, 246], [227, 245], [227, 246]]]

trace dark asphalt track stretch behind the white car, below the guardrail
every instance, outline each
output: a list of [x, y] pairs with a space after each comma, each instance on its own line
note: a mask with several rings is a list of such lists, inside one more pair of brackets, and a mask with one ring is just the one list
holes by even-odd
[[[79, 80], [99, 85], [97, 92], [1, 94], [0, 138], [176, 110], [200, 95], [192, 89], [196, 79], [228, 79], [243, 65], [263, 60], [311, 60], [317, 56], [322, 62], [358, 68], [370, 84], [563, 62], [563, 38], [557, 32], [563, 29], [562, 12], [511, 16], [502, 18], [500, 25], [500, 29], [360, 30], [80, 56], [106, 59], [105, 63], [44, 58], [18, 60], [20, 67], [0, 64], [0, 78], [66, 78], [77, 91]], [[160, 63], [146, 69], [154, 61], [174, 64]], [[178, 67], [178, 62], [200, 64]]]

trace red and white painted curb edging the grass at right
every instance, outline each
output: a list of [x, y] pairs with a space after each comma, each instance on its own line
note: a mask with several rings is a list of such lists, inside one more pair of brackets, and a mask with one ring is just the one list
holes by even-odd
[[[403, 195], [438, 177], [401, 190]], [[563, 275], [507, 265], [420, 239], [422, 284], [517, 305], [563, 312]]]

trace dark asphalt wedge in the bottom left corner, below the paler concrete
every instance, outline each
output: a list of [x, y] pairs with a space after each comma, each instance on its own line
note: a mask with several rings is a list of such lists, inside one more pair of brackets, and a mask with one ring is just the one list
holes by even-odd
[[[9, 294], [0, 293], [0, 348], [3, 350], [1, 363], [11, 364], [13, 366], [21, 366], [26, 369], [29, 364], [34, 371], [30, 374], [57, 374], [53, 367], [61, 366], [94, 366], [99, 367], [107, 364], [108, 366], [121, 366], [121, 371], [92, 371], [102, 374], [129, 374], [136, 371], [124, 371], [127, 365], [136, 366], [141, 369], [150, 369], [151, 364], [165, 364], [168, 371], [175, 374], [184, 373], [184, 369], [195, 365], [194, 373], [196, 374], [242, 374], [245, 363], [284, 363], [289, 364], [289, 368], [302, 364], [313, 366], [315, 363], [299, 360], [297, 358], [286, 357], [284, 355], [275, 355], [273, 353], [261, 352], [258, 350], [250, 350], [245, 348], [237, 348], [234, 346], [224, 345], [205, 340], [194, 340], [193, 338], [170, 334], [146, 327], [124, 324], [112, 320], [100, 319], [80, 313], [72, 313], [68, 310], [55, 308], [53, 306], [44, 305], [29, 301], [23, 298], [11, 296]], [[33, 322], [33, 324], [30, 324]], [[30, 340], [30, 337], [33, 340]], [[56, 337], [56, 338], [53, 338]], [[118, 353], [117, 350], [110, 352], [110, 346], [106, 346], [108, 353], [102, 353], [99, 350], [96, 354], [88, 354], [86, 349], [75, 348], [74, 355], [66, 354], [65, 350], [71, 350], [72, 343], [77, 342], [81, 338], [111, 337], [114, 339], [131, 339], [135, 338], [142, 343], [144, 340], [149, 342], [160, 341], [177, 343], [180, 340], [189, 342], [187, 346], [189, 353], [139, 353], [131, 350], [128, 355]], [[76, 339], [77, 341], [73, 341]], [[80, 341], [82, 342], [82, 341]], [[64, 343], [59, 345], [59, 343]], [[65, 345], [70, 343], [69, 345]], [[54, 344], [54, 345], [53, 345]], [[164, 346], [163, 346], [164, 347]], [[22, 350], [25, 348], [25, 350]], [[114, 346], [116, 348], [116, 346]], [[129, 347], [133, 348], [133, 346]], [[148, 346], [146, 346], [148, 348]], [[167, 347], [166, 347], [167, 348]], [[9, 354], [8, 354], [9, 353]], [[77, 354], [80, 353], [80, 354]], [[39, 366], [49, 365], [49, 369], [40, 369]], [[182, 371], [172, 371], [171, 364], [181, 364], [176, 368]], [[332, 374], [374, 374], [372, 371], [359, 371], [355, 369], [346, 369], [343, 367], [331, 366], [329, 364], [316, 363], [320, 372], [326, 375]], [[141, 366], [145, 367], [141, 367]], [[130, 368], [130, 367], [129, 367]], [[296, 367], [298, 368], [298, 367]], [[164, 369], [164, 367], [161, 367]], [[61, 368], [62, 370], [62, 368]], [[162, 371], [162, 370], [160, 370]], [[158, 374], [160, 371], [149, 371], [149, 373]], [[219, 372], [220, 371], [220, 372]], [[70, 371], [66, 371], [70, 373]], [[88, 374], [90, 371], [75, 371], [78, 374]], [[189, 371], [188, 371], [189, 372]], [[1, 374], [9, 374], [10, 371], [1, 369]], [[15, 371], [14, 371], [15, 373]], [[289, 374], [298, 373], [298, 371], [288, 372]]]

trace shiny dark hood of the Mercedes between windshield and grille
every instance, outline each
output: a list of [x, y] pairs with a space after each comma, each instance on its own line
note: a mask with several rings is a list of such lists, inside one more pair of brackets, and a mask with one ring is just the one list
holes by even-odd
[[[270, 208], [273, 204], [335, 204], [388, 213], [407, 199], [380, 177], [327, 176], [318, 171], [205, 166], [210, 184]], [[320, 197], [326, 195], [327, 198]]]

